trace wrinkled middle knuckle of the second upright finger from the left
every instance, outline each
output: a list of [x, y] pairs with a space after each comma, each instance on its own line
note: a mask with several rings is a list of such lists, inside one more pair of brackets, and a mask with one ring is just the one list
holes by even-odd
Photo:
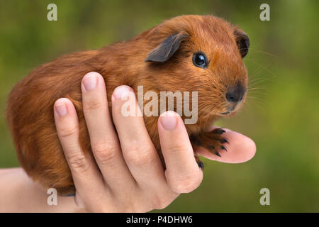
[[116, 157], [116, 145], [112, 141], [100, 141], [93, 145], [94, 154], [97, 161], [111, 162]]

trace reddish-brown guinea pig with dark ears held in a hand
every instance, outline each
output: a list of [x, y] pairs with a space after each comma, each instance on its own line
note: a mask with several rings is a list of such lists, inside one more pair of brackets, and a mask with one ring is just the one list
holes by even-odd
[[[79, 117], [79, 141], [91, 152], [82, 111], [84, 74], [99, 72], [106, 82], [108, 105], [120, 85], [144, 92], [198, 92], [197, 121], [185, 124], [194, 148], [220, 155], [226, 149], [223, 129], [208, 131], [221, 116], [237, 112], [245, 101], [247, 69], [242, 58], [250, 40], [239, 28], [214, 16], [178, 16], [126, 42], [101, 50], [75, 52], [41, 65], [13, 87], [6, 116], [18, 160], [26, 173], [43, 187], [60, 194], [74, 193], [74, 182], [57, 137], [53, 104], [66, 97]], [[174, 106], [174, 110], [177, 106]], [[159, 113], [161, 114], [161, 113]], [[143, 116], [145, 126], [162, 157], [158, 116]], [[186, 118], [181, 114], [181, 118]], [[194, 155], [198, 166], [203, 163]]]

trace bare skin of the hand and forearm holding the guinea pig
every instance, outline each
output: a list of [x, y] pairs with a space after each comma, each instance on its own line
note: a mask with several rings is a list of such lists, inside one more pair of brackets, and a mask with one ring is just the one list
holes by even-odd
[[58, 99], [54, 106], [55, 124], [77, 189], [75, 196], [58, 196], [57, 206], [48, 206], [46, 190], [21, 168], [0, 170], [0, 185], [6, 185], [0, 187], [0, 212], [164, 209], [179, 194], [192, 192], [201, 184], [203, 172], [194, 152], [229, 163], [246, 162], [254, 156], [254, 142], [228, 129], [224, 135], [230, 144], [228, 152], [220, 152], [222, 157], [208, 150], [193, 150], [182, 119], [174, 112], [165, 112], [157, 125], [166, 164], [164, 170], [142, 116], [121, 114], [124, 101], [119, 97], [132, 93], [128, 86], [117, 87], [109, 113], [103, 77], [90, 72], [82, 79], [82, 103], [93, 155], [84, 155], [80, 148], [79, 122], [72, 102]]

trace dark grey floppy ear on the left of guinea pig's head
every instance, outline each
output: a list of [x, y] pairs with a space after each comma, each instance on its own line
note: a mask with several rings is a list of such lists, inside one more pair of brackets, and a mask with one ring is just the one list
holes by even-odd
[[179, 49], [181, 41], [187, 37], [186, 33], [169, 35], [157, 48], [146, 57], [145, 62], [166, 62]]

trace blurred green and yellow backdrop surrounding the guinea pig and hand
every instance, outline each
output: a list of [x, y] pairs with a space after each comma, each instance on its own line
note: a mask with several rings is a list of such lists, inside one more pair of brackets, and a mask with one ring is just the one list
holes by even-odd
[[[58, 21], [47, 21], [47, 4]], [[270, 6], [271, 21], [259, 20]], [[62, 54], [128, 40], [181, 14], [213, 14], [250, 36], [250, 92], [218, 122], [250, 136], [257, 153], [230, 165], [204, 160], [201, 186], [163, 211], [319, 211], [319, 1], [0, 1], [0, 167], [18, 166], [4, 110], [13, 84]], [[0, 187], [3, 187], [2, 185]], [[261, 206], [259, 190], [270, 190]]]

